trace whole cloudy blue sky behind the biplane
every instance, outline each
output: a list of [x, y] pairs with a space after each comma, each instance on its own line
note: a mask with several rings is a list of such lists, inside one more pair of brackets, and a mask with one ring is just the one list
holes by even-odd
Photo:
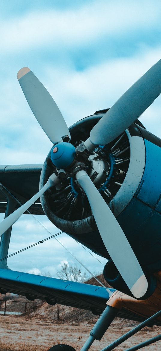
[[[158, 0], [1, 0], [1, 165], [43, 163], [52, 146], [17, 81], [20, 68], [29, 67], [41, 80], [70, 126], [111, 107], [161, 58], [160, 18]], [[140, 121], [161, 138], [160, 115], [158, 97]], [[38, 219], [52, 234], [59, 232], [45, 216]], [[48, 236], [23, 215], [13, 225], [9, 253]], [[103, 265], [73, 239], [58, 239], [90, 272], [102, 272]], [[63, 262], [74, 265], [75, 259], [52, 238], [9, 258], [8, 266], [56, 277]]]

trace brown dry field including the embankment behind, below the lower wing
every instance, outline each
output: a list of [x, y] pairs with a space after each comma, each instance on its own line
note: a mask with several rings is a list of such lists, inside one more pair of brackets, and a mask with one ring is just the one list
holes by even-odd
[[[95, 284], [93, 278], [89, 283]], [[4, 295], [0, 294], [0, 299], [3, 298]], [[40, 300], [29, 302], [23, 296], [13, 297], [10, 294], [5, 297], [5, 299], [11, 298], [12, 301], [7, 300], [6, 311], [17, 311], [23, 314], [21, 316], [0, 315], [0, 351], [47, 351], [53, 345], [60, 343], [71, 345], [79, 351], [98, 319], [98, 316], [90, 311], [59, 305], [60, 319], [58, 320], [58, 305], [51, 306]], [[25, 302], [27, 302], [26, 313], [24, 313]], [[5, 302], [0, 302], [1, 311], [4, 311], [4, 306]], [[95, 340], [90, 350], [102, 350], [136, 325], [138, 322], [116, 317], [102, 340]], [[161, 327], [145, 327], [136, 336], [116, 347], [115, 351], [126, 350], [160, 333]], [[161, 351], [161, 341], [140, 350]]]

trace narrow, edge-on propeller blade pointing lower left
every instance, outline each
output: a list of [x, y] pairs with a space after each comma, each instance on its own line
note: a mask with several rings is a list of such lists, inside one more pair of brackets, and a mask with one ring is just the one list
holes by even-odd
[[54, 185], [57, 185], [60, 182], [59, 178], [57, 178], [56, 174], [51, 174], [46, 184], [35, 194], [30, 200], [28, 200], [24, 205], [17, 208], [16, 211], [11, 213], [8, 217], [3, 219], [0, 223], [0, 236], [6, 232], [6, 230], [11, 227], [15, 221], [22, 216], [22, 214], [28, 210], [28, 208], [34, 204], [34, 202], [49, 188]]

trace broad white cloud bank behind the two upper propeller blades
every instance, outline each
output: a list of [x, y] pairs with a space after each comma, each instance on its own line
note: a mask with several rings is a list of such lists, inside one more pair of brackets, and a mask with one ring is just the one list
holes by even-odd
[[[63, 113], [67, 125], [111, 107], [114, 102], [161, 57], [161, 46], [141, 48], [132, 57], [114, 58], [97, 63], [81, 72], [73, 67], [45, 63], [44, 72], [37, 67], [38, 78], [49, 90]], [[32, 114], [15, 78], [1, 83], [2, 110], [1, 164], [43, 163], [52, 144]], [[160, 97], [140, 118], [153, 116], [159, 121]], [[154, 116], [153, 116], [154, 117]], [[148, 122], [148, 128], [160, 135], [160, 125]], [[154, 128], [157, 125], [157, 128]], [[158, 131], [159, 127], [159, 131]], [[153, 129], [154, 128], [154, 129]]]

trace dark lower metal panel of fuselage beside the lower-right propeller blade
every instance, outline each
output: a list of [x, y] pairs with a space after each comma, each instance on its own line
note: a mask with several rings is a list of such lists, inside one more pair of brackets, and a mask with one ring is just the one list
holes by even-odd
[[161, 270], [161, 214], [133, 198], [117, 220], [142, 267]]

